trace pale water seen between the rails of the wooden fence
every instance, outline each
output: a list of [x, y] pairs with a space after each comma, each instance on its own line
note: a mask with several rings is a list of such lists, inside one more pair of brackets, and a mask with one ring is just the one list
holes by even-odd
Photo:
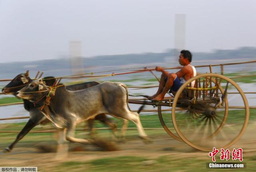
[[[193, 65], [205, 65], [205, 64], [218, 64], [218, 63], [234, 63], [238, 61], [248, 61], [252, 59], [223, 59], [223, 60], [201, 60], [201, 61], [193, 61]], [[252, 70], [252, 67], [254, 67], [255, 63], [252, 64], [240, 64], [240, 65], [228, 65], [224, 66], [224, 71], [225, 73], [232, 73], [232, 72], [238, 72], [238, 71], [250, 71]], [[169, 57], [166, 57], [164, 63], [159, 63], [159, 64], [145, 64], [145, 66], [154, 66], [154, 65], [162, 65], [164, 67], [175, 67], [177, 66], [177, 62], [174, 59], [171, 59]], [[125, 66], [119, 66], [119, 68], [132, 68], [132, 67], [141, 67], [140, 65], [125, 65]], [[117, 67], [116, 67], [117, 68]], [[105, 71], [109, 69], [115, 69], [114, 66], [106, 66], [106, 67], [100, 67], [98, 68], [98, 71]], [[220, 67], [212, 67], [213, 72], [220, 72]], [[96, 69], [94, 69], [96, 70]], [[123, 71], [115, 71], [115, 73], [120, 73], [120, 72], [127, 72], [128, 70], [123, 70]], [[170, 70], [170, 72], [175, 72], [175, 70]], [[206, 71], [209, 72], [209, 67], [202, 67], [202, 68], [197, 68], [197, 71], [200, 73], [205, 73]], [[25, 72], [25, 70], [24, 70]], [[44, 71], [45, 74], [43, 76], [48, 76], [48, 75], [54, 75], [54, 76], [64, 76], [64, 75], [70, 75], [70, 69], [66, 70], [52, 70], [52, 71]], [[86, 71], [90, 72], [90, 71]], [[30, 71], [30, 76], [34, 77], [36, 75], [37, 71]], [[106, 72], [106, 73], [111, 73], [111, 72]], [[161, 73], [154, 71], [154, 73], [157, 75], [157, 77], [160, 77]], [[97, 73], [96, 75], [102, 75], [104, 73]], [[6, 74], [1, 74], [0, 79], [6, 79], [6, 78], [14, 78], [17, 75], [17, 73], [8, 73]], [[152, 74], [149, 72], [143, 72], [143, 73], [133, 73], [133, 74], [126, 74], [126, 75], [115, 75], [115, 76], [109, 76], [109, 77], [99, 77], [99, 78], [90, 78], [90, 80], [97, 80], [97, 81], [125, 81], [127, 85], [158, 85], [157, 81], [154, 82], [146, 82], [144, 81], [145, 78], [152, 78]], [[84, 80], [86, 81], [88, 78], [83, 78], [83, 79], [77, 79], [77, 80]], [[134, 81], [134, 79], [138, 79]], [[131, 81], [128, 81], [131, 80]], [[72, 82], [74, 80], [71, 79], [63, 79], [62, 82]], [[4, 85], [9, 83], [9, 81], [6, 82], [1, 82], [0, 83], [0, 88], [2, 88]], [[239, 86], [242, 88], [244, 92], [255, 92], [256, 84], [255, 83], [239, 83]], [[129, 94], [141, 94], [141, 95], [153, 95], [156, 93], [157, 88], [149, 88], [149, 89], [129, 89]], [[4, 97], [6, 95], [0, 95], [0, 98]], [[10, 95], [8, 95], [10, 96]], [[239, 97], [238, 95], [232, 95], [232, 103], [234, 105], [241, 105], [242, 102], [237, 101], [237, 98]], [[248, 99], [249, 105], [250, 106], [256, 106], [256, 94], [246, 94], [246, 97]], [[136, 97], [129, 97], [129, 99], [134, 99]], [[140, 105], [135, 105], [135, 104], [130, 104], [130, 107], [132, 110], [137, 110]], [[152, 106], [146, 106], [146, 109], [154, 109]], [[29, 112], [24, 110], [23, 105], [12, 105], [12, 106], [4, 106], [0, 107], [0, 118], [6, 118], [6, 117], [23, 117], [23, 116], [28, 116]], [[23, 122], [27, 121], [28, 119], [18, 119], [18, 120], [12, 120], [12, 121], [0, 121], [0, 123], [9, 123], [9, 122]]]

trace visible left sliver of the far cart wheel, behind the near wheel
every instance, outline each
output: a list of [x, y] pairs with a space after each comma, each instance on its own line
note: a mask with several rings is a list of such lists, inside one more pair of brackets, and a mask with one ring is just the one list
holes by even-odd
[[[183, 140], [178, 136], [178, 134], [174, 134], [173, 132], [175, 132], [175, 130], [173, 129], [173, 124], [172, 124], [172, 116], [170, 115], [170, 113], [166, 114], [162, 114], [162, 108], [161, 106], [158, 106], [158, 117], [160, 120], [161, 125], [163, 126], [164, 130], [173, 138], [175, 138], [176, 140], [179, 140], [181, 142], [183, 142]], [[171, 131], [174, 130], [174, 131]]]

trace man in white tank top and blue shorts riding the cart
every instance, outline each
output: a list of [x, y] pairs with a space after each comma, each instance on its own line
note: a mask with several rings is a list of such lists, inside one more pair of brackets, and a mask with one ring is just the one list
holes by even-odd
[[[156, 66], [156, 71], [162, 72], [160, 84], [158, 91], [155, 95], [148, 97], [148, 99], [153, 99], [154, 101], [162, 101], [164, 95], [169, 91], [174, 96], [180, 86], [184, 84], [188, 79], [196, 76], [196, 69], [190, 64], [192, 61], [192, 54], [188, 50], [180, 51], [179, 63], [183, 67], [176, 73], [169, 73], [165, 71], [162, 67]], [[191, 83], [194, 87], [195, 81]]]

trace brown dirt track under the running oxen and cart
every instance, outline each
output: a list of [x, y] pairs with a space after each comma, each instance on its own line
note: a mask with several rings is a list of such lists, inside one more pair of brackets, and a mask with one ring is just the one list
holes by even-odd
[[[250, 123], [245, 134], [232, 148], [243, 148], [243, 156], [256, 156], [256, 123]], [[128, 137], [125, 142], [118, 142], [117, 151], [102, 151], [96, 146], [70, 144], [70, 147], [80, 151], [69, 151], [68, 156], [62, 160], [54, 159], [56, 153], [42, 153], [37, 145], [17, 146], [8, 154], [0, 153], [0, 166], [37, 166], [40, 168], [50, 168], [65, 161], [87, 161], [98, 158], [115, 156], [145, 156], [157, 158], [159, 156], [171, 157], [205, 157], [210, 162], [208, 152], [195, 150], [183, 142], [171, 138], [168, 134], [157, 135], [152, 138], [152, 143], [144, 142], [135, 136]], [[230, 149], [232, 149], [230, 148]], [[40, 171], [40, 170], [39, 170]]]

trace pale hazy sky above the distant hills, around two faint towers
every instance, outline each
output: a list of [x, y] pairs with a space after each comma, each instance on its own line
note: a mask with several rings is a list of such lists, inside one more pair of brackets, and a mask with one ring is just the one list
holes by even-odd
[[186, 14], [186, 49], [256, 47], [256, 0], [0, 0], [1, 62], [174, 48], [175, 14]]

